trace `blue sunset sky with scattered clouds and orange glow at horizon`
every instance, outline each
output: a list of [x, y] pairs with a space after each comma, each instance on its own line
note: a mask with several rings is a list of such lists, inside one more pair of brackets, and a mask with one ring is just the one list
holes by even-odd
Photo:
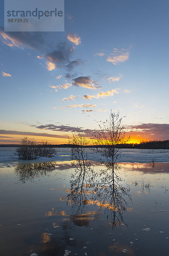
[[131, 143], [169, 139], [169, 2], [65, 0], [64, 32], [4, 32], [0, 144], [64, 144], [120, 111]]

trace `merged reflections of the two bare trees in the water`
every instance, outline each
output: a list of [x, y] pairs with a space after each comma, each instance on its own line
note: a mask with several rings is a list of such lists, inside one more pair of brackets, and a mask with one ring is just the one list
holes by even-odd
[[122, 225], [123, 212], [127, 210], [127, 201], [131, 201], [131, 195], [129, 186], [124, 186], [123, 179], [117, 175], [119, 168], [119, 165], [114, 167], [116, 175], [112, 175], [110, 169], [97, 172], [96, 175], [89, 163], [87, 166], [78, 166], [76, 162], [70, 180], [70, 193], [67, 195], [74, 214], [82, 214], [85, 207], [95, 205], [105, 211], [107, 218], [112, 218], [112, 227]]

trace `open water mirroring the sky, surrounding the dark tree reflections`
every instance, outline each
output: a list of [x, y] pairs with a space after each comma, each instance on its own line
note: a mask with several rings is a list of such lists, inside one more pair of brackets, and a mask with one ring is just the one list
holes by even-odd
[[[54, 164], [54, 169], [31, 175], [31, 181], [30, 175], [27, 176], [25, 183], [20, 181], [14, 167], [0, 168], [2, 255], [36, 252], [38, 256], [61, 256], [65, 250], [71, 250], [70, 255], [86, 252], [118, 256], [127, 249], [128, 255], [142, 256], [160, 255], [161, 248], [167, 253], [169, 163], [156, 164], [154, 169], [149, 164], [121, 165], [119, 175], [125, 180], [123, 184], [129, 184], [132, 201], [126, 198], [123, 221], [116, 223], [106, 211], [110, 208], [111, 212], [109, 202], [100, 205], [98, 200], [83, 201], [83, 212], [77, 214], [76, 206], [72, 208], [72, 201], [67, 199], [74, 173], [71, 161]], [[95, 163], [95, 170], [100, 169], [102, 167]], [[142, 182], [150, 182], [150, 186], [143, 188]], [[85, 191], [88, 196], [94, 192], [90, 187], [85, 187]], [[54, 228], [56, 226], [60, 227]], [[146, 227], [150, 231], [143, 230]]]

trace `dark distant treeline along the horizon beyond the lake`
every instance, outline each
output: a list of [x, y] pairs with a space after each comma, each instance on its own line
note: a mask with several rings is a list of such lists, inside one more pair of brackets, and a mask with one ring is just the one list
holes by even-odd
[[[16, 144], [1, 144], [0, 147], [20, 147], [21, 145]], [[70, 148], [74, 145], [68, 144], [48, 144], [48, 145], [34, 145], [33, 147], [49, 147], [49, 148]], [[94, 148], [95, 145], [88, 145], [87, 148]], [[103, 145], [97, 145], [97, 147], [105, 147]], [[126, 144], [117, 144], [116, 148], [140, 148], [140, 149], [169, 149], [169, 140], [150, 140], [150, 141], [141, 141], [137, 143], [126, 143]]]

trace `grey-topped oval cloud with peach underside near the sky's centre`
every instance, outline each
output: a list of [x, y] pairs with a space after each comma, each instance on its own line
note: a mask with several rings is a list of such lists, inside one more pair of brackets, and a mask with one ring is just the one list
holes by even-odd
[[78, 87], [83, 87], [83, 88], [88, 88], [88, 89], [96, 89], [96, 88], [101, 88], [97, 82], [94, 80], [90, 79], [89, 76], [79, 76], [75, 79], [73, 79], [73, 84]]

